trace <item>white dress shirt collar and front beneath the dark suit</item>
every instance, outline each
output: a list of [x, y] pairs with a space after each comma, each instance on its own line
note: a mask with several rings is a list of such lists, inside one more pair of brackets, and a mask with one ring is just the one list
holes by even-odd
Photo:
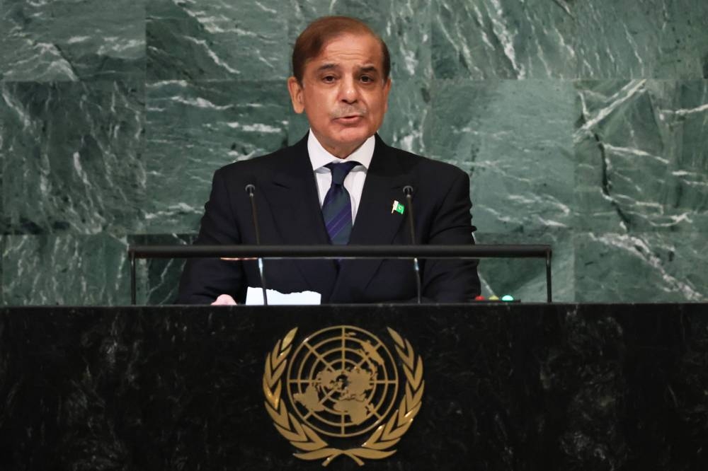
[[344, 187], [349, 192], [352, 200], [352, 223], [356, 219], [356, 212], [361, 201], [361, 193], [364, 190], [364, 180], [366, 180], [366, 172], [371, 165], [371, 158], [374, 155], [374, 146], [376, 140], [374, 136], [364, 141], [364, 144], [359, 146], [359, 149], [351, 153], [347, 158], [337, 158], [326, 151], [322, 144], [319, 143], [310, 129], [307, 137], [307, 152], [309, 153], [312, 170], [317, 180], [317, 193], [319, 194], [319, 206], [324, 203], [324, 197], [332, 185], [332, 173], [327, 165], [331, 162], [343, 163], [357, 161], [360, 165], [355, 166], [344, 179]]

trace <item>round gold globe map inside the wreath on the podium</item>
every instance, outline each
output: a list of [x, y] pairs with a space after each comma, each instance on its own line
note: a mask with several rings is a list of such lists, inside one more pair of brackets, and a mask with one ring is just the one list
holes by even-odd
[[304, 339], [287, 371], [287, 394], [296, 413], [328, 436], [364, 434], [391, 411], [398, 370], [375, 335], [340, 325]]

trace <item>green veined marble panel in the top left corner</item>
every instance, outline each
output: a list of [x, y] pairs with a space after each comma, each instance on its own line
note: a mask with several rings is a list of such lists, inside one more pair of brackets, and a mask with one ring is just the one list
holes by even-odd
[[145, 0], [3, 0], [0, 78], [121, 80], [145, 74]]

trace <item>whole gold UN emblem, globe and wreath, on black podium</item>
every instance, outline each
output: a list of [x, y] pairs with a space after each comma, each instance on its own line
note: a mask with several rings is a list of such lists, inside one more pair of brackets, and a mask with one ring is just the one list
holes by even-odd
[[[404, 385], [386, 344], [359, 327], [319, 330], [292, 352], [295, 328], [275, 344], [265, 359], [265, 409], [275, 429], [299, 450], [297, 458], [324, 460], [326, 466], [346, 455], [363, 465], [364, 459], [396, 453], [393, 447], [421, 409], [425, 381], [423, 360], [411, 343], [388, 332]], [[340, 447], [338, 441], [356, 444]]]

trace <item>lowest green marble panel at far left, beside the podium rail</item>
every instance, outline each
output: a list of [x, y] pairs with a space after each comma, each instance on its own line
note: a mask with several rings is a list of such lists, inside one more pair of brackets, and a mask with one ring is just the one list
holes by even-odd
[[2, 258], [9, 306], [130, 303], [125, 237], [5, 236]]

